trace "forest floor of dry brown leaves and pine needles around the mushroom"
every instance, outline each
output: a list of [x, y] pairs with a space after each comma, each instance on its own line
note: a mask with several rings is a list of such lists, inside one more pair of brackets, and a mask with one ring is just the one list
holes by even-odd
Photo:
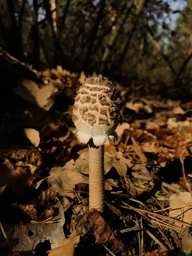
[[[49, 256], [191, 255], [192, 102], [115, 83], [122, 120], [105, 145], [105, 217], [88, 216], [88, 148], [72, 122], [84, 76], [44, 77], [45, 88], [57, 84], [52, 107], [28, 97], [0, 127], [0, 255], [44, 256], [60, 242]], [[87, 227], [83, 216], [98, 221]]]

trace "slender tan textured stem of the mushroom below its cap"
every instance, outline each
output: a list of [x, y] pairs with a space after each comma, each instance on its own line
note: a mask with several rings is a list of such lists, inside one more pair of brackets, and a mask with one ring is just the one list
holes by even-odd
[[89, 209], [104, 212], [104, 145], [89, 143]]

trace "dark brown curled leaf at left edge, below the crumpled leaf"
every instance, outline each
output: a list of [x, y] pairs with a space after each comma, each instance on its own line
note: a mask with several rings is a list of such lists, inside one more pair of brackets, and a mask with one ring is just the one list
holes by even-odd
[[0, 187], [8, 186], [23, 192], [26, 186], [32, 184], [35, 176], [26, 172], [21, 167], [14, 168], [8, 159], [0, 160]]

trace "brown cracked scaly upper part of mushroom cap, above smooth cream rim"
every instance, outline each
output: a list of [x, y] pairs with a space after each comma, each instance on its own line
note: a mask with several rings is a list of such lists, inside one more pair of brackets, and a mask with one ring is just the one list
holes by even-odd
[[73, 107], [73, 122], [83, 119], [89, 125], [110, 125], [119, 119], [119, 99], [111, 81], [93, 75], [81, 85]]

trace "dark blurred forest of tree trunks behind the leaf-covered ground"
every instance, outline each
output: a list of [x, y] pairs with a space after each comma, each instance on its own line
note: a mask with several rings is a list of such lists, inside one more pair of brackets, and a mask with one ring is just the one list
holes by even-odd
[[0, 46], [36, 70], [192, 94], [192, 0], [1, 0]]

